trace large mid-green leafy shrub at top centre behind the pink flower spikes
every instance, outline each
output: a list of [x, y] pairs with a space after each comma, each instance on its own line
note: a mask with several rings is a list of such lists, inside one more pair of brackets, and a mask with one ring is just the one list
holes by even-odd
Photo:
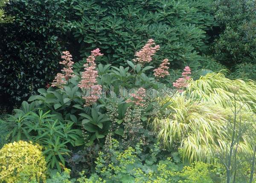
[[215, 25], [211, 6], [209, 0], [73, 0], [77, 16], [71, 24], [82, 56], [99, 47], [105, 63], [124, 66], [141, 40], [153, 38], [163, 46], [157, 60], [164, 55], [171, 67], [195, 65], [201, 59], [198, 52], [207, 48], [206, 31]]

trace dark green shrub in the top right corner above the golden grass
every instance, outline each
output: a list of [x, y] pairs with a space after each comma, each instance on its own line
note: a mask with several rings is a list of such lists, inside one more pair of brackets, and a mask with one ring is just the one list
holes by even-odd
[[253, 0], [217, 0], [217, 23], [223, 29], [212, 45], [220, 63], [233, 68], [236, 64], [256, 63], [256, 2]]

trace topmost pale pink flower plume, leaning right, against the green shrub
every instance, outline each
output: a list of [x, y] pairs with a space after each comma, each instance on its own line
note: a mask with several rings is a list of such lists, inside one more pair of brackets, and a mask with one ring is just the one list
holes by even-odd
[[159, 45], [155, 45], [155, 42], [153, 39], [149, 39], [148, 42], [145, 44], [145, 46], [135, 53], [135, 56], [137, 56], [136, 59], [133, 59], [134, 62], [139, 62], [141, 64], [151, 62], [152, 56], [156, 53], [157, 50], [160, 49]]

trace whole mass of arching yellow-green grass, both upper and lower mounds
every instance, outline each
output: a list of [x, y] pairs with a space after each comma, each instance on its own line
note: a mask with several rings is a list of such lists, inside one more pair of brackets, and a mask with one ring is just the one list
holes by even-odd
[[[242, 107], [237, 119], [241, 118], [243, 124], [250, 126], [256, 120], [255, 82], [232, 81], [222, 73], [209, 73], [192, 81], [183, 93], [166, 99], [171, 102], [171, 113], [168, 118], [153, 120], [154, 131], [169, 149], [174, 143], [180, 143], [183, 158], [191, 162], [210, 160], [215, 149], [226, 147], [227, 130], [224, 127], [234, 118], [234, 93], [236, 107]], [[249, 138], [246, 135], [241, 138], [240, 152], [251, 151]]]

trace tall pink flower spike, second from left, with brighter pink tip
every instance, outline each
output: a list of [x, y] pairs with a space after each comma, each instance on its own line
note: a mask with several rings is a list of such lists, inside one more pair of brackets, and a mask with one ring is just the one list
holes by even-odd
[[98, 71], [96, 70], [95, 59], [97, 56], [102, 56], [99, 48], [91, 51], [91, 55], [86, 59], [87, 63], [84, 64], [84, 72], [82, 73], [82, 80], [79, 82], [78, 86], [87, 92], [89, 95], [83, 96], [85, 100], [85, 105], [89, 106], [99, 99], [99, 94], [101, 93], [102, 87], [97, 85], [96, 77], [98, 77]]

